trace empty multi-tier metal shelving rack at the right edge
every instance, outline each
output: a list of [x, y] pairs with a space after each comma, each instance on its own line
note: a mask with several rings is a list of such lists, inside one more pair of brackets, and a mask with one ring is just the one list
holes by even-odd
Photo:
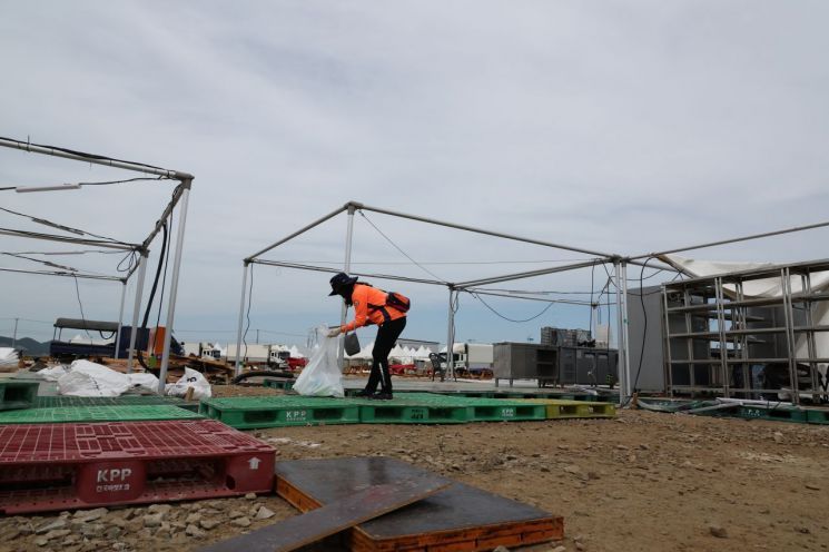
[[[829, 300], [828, 293], [812, 290], [811, 276], [829, 270], [829, 259], [806, 263], [774, 265], [760, 269], [737, 272], [709, 277], [674, 282], [662, 286], [663, 339], [665, 355], [665, 378], [669, 392], [709, 393], [724, 397], [734, 394], [750, 396], [758, 393], [779, 393], [781, 388], [758, 388], [752, 386], [752, 366], [767, 367], [770, 364], [788, 366], [786, 390], [791, 401], [800, 402], [798, 365], [808, 366], [810, 393], [826, 395], [820, 387], [818, 365], [829, 363], [819, 357], [816, 334], [829, 332], [827, 325], [815, 325], [815, 307]], [[744, 285], [752, 280], [779, 278], [782, 290], [777, 297], [747, 298]], [[801, 290], [792, 290], [792, 280], [800, 280]], [[783, 314], [783, 324], [767, 327], [751, 327], [761, 323], [758, 310]], [[798, 325], [798, 319], [803, 321]], [[700, 326], [704, 324], [705, 329]], [[682, 331], [677, 332], [677, 326]], [[672, 328], [674, 328], [672, 331]], [[774, 357], [752, 356], [753, 345], [768, 343], [764, 338], [783, 335], [781, 355]], [[806, 336], [808, 356], [797, 355], [797, 338]], [[699, 342], [705, 344], [704, 357], [700, 357]], [[779, 343], [779, 341], [778, 341]], [[687, 358], [681, 352], [687, 355]], [[687, 383], [674, 382], [674, 368], [688, 367]], [[708, 366], [707, 382], [697, 381], [697, 366]], [[739, 371], [739, 377], [738, 377]]]

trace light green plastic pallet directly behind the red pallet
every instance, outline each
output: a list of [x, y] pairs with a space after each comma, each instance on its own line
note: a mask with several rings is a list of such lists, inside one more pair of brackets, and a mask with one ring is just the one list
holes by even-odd
[[0, 424], [55, 424], [65, 422], [144, 422], [197, 420], [200, 414], [168, 405], [56, 406], [0, 412]]

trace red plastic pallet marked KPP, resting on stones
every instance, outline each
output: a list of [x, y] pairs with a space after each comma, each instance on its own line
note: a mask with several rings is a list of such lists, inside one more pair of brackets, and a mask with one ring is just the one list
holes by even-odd
[[274, 457], [213, 420], [0, 425], [0, 512], [268, 493]]

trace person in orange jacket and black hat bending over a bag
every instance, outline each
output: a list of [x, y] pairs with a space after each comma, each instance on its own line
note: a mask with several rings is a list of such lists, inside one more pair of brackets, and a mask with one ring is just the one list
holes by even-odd
[[[328, 296], [339, 295], [346, 305], [354, 306], [354, 319], [343, 326], [330, 328], [329, 337], [335, 337], [341, 333], [353, 332], [358, 327], [369, 324], [377, 325], [377, 338], [374, 341], [372, 349], [372, 373], [368, 375], [368, 383], [357, 396], [369, 398], [389, 400], [392, 398], [392, 375], [388, 373], [388, 353], [392, 352], [394, 344], [406, 327], [406, 312], [408, 310], [408, 299], [405, 305], [394, 300], [396, 297], [387, 294], [382, 289], [372, 287], [364, 282], [357, 283], [356, 277], [348, 276], [345, 273], [336, 274], [330, 279], [332, 292]], [[379, 393], [377, 384], [381, 385]]]

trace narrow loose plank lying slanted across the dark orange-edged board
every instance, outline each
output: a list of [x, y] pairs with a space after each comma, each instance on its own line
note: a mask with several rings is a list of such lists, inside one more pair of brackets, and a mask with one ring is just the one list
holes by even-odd
[[418, 477], [372, 485], [308, 513], [200, 549], [203, 552], [289, 552], [423, 500], [451, 483]]

